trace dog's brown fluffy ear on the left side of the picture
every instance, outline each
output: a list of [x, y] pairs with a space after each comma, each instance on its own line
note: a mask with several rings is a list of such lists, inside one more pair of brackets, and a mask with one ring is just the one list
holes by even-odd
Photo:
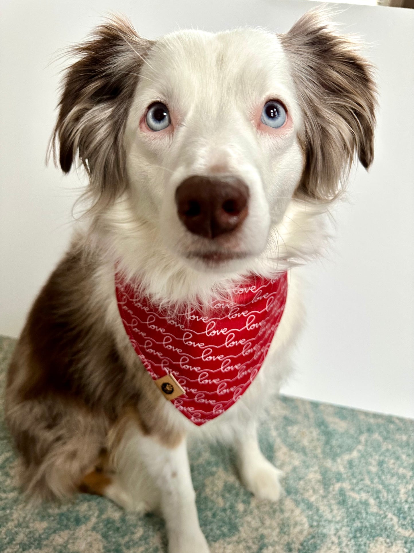
[[95, 200], [113, 199], [125, 187], [123, 132], [151, 44], [114, 16], [70, 50], [78, 59], [63, 77], [52, 148], [65, 173], [79, 156]]

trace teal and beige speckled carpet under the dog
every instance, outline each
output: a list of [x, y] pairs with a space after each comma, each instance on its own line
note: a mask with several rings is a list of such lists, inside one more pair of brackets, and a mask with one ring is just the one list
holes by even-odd
[[[1, 397], [13, 346], [0, 338]], [[225, 448], [190, 451], [211, 553], [414, 553], [414, 421], [282, 398], [261, 444], [285, 473], [277, 504], [241, 487]], [[166, 550], [159, 518], [125, 513], [107, 499], [28, 507], [13, 482], [14, 459], [0, 422], [0, 551]]]

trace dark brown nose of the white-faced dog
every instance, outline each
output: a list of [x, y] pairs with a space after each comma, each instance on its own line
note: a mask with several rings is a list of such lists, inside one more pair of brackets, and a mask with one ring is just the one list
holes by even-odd
[[234, 176], [190, 176], [176, 190], [178, 216], [193, 234], [215, 238], [240, 227], [249, 191]]

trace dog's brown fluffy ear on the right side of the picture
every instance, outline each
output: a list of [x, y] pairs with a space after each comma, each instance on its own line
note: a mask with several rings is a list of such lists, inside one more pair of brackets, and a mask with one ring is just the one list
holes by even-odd
[[335, 198], [354, 154], [365, 168], [374, 157], [376, 87], [358, 44], [329, 25], [320, 9], [280, 36], [304, 116], [299, 136], [305, 167], [299, 196]]

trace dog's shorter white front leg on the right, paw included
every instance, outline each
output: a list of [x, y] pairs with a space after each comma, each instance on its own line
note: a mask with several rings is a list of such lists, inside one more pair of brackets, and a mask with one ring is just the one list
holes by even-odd
[[243, 485], [258, 499], [277, 501], [282, 492], [279, 471], [260, 450], [256, 422], [236, 431], [235, 449], [237, 467]]

